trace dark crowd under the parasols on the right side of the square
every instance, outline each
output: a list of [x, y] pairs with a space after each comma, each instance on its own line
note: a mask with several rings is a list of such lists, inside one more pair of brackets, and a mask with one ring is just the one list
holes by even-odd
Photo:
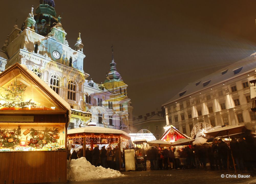
[[228, 169], [228, 161], [229, 167], [234, 167], [233, 159], [236, 169], [256, 169], [256, 139], [251, 134], [240, 139], [231, 138], [228, 144], [222, 139], [214, 139], [212, 144], [184, 146], [182, 149], [164, 148], [161, 151], [152, 147], [147, 151], [147, 160], [151, 170], [207, 169], [208, 165], [211, 170], [222, 170]]

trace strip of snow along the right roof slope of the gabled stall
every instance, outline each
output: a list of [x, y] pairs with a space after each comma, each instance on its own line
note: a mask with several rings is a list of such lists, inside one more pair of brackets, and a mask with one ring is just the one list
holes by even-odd
[[[64, 99], [60, 97], [55, 91], [53, 91], [42, 79], [40, 79], [33, 71], [29, 70], [25, 65], [22, 66], [38, 83], [40, 83], [47, 91], [49, 91], [63, 106], [65, 106], [69, 113], [68, 116], [71, 117], [71, 107]], [[68, 122], [69, 123], [69, 122]]]

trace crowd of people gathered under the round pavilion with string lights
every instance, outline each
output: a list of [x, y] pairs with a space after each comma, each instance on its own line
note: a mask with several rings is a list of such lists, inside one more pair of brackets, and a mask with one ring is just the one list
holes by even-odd
[[[119, 152], [118, 146], [113, 150], [111, 148], [105, 149], [103, 146], [99, 149], [99, 146], [95, 146], [94, 149], [86, 148], [85, 157], [94, 166], [102, 166], [105, 168], [119, 169], [119, 154], [121, 154], [122, 166], [125, 167], [124, 161], [124, 150], [123, 153]], [[72, 154], [68, 150], [67, 160], [78, 159], [83, 156], [83, 149], [79, 149], [78, 152], [73, 150]]]

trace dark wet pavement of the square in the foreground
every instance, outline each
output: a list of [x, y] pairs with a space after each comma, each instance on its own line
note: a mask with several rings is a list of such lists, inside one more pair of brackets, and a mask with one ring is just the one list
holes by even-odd
[[[210, 171], [203, 169], [180, 169], [158, 171], [130, 171], [123, 172], [124, 177], [88, 180], [83, 182], [68, 182], [70, 184], [149, 184], [149, 183], [175, 183], [175, 184], [226, 184], [244, 183], [256, 184], [256, 175], [249, 172]], [[224, 178], [221, 178], [221, 175]], [[239, 178], [240, 175], [250, 175], [249, 178]], [[227, 178], [229, 177], [229, 178]], [[232, 177], [232, 178], [231, 178]], [[236, 177], [236, 178], [235, 178]]]

